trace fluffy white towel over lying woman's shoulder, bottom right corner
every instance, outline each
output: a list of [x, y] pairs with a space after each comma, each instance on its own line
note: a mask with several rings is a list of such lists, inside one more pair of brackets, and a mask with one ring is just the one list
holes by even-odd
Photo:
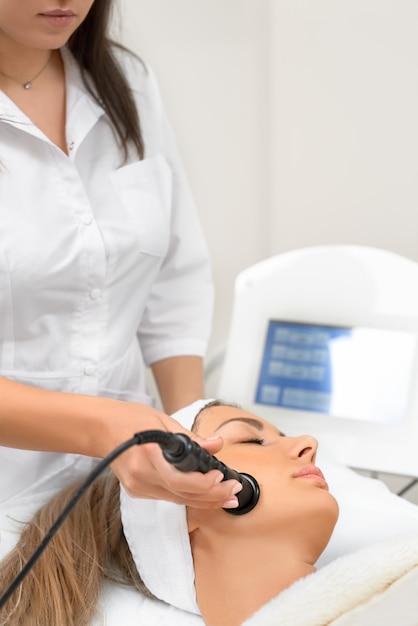
[[[409, 592], [405, 598], [399, 593], [396, 598], [397, 583], [408, 576], [414, 576], [413, 595]], [[418, 532], [336, 559], [285, 589], [243, 626], [358, 626], [363, 624], [360, 608], [378, 603], [392, 591], [394, 612], [386, 615], [384, 622], [379, 621], [379, 626], [418, 626]], [[403, 605], [405, 602], [408, 606]], [[403, 609], [407, 609], [404, 617]], [[356, 618], [338, 619], [353, 610]], [[369, 622], [370, 626], [372, 623], [377, 624]]]

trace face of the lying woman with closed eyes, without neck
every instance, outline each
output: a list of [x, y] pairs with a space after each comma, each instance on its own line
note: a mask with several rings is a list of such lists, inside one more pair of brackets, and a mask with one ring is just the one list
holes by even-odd
[[202, 437], [221, 436], [224, 447], [217, 458], [258, 481], [260, 501], [242, 516], [251, 520], [253, 530], [256, 518], [260, 530], [288, 531], [291, 524], [295, 532], [310, 527], [315, 535], [319, 526], [328, 541], [338, 505], [315, 466], [318, 443], [313, 437], [286, 437], [269, 422], [231, 406], [204, 409], [194, 430]]

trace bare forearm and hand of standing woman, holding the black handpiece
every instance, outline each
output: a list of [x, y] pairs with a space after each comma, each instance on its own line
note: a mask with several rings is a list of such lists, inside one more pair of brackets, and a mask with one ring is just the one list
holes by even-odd
[[[178, 422], [145, 404], [47, 391], [0, 376], [0, 445], [24, 450], [82, 454], [104, 458], [144, 430], [184, 432], [211, 454], [222, 439], [205, 441]], [[220, 482], [218, 470], [180, 472], [164, 460], [158, 444], [134, 446], [113, 469], [135, 497], [170, 500], [202, 508], [233, 507], [241, 489], [234, 480]]]

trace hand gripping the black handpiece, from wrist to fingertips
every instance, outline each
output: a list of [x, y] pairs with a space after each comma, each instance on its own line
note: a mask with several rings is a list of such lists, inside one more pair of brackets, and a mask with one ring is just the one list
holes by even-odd
[[[139, 415], [134, 416], [135, 411]], [[108, 452], [137, 432], [155, 429], [185, 433], [210, 454], [222, 448], [221, 437], [202, 439], [152, 407], [126, 403], [125, 413], [108, 424], [108, 438], [113, 442]], [[177, 470], [164, 459], [160, 446], [154, 443], [129, 448], [113, 462], [112, 468], [133, 497], [169, 500], [199, 508], [234, 508], [238, 504], [235, 494], [242, 489], [236, 480], [223, 481], [219, 470], [206, 474]]]

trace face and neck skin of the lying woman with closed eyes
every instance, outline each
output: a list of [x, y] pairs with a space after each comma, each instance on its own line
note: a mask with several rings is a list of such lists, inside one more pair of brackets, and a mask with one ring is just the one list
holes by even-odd
[[[251, 474], [260, 499], [250, 512], [230, 515], [188, 507], [199, 608], [208, 626], [239, 626], [296, 580], [315, 571], [338, 518], [338, 505], [315, 466], [317, 441], [285, 437], [242, 409], [209, 406], [193, 430], [220, 436], [216, 457]], [[214, 602], [216, 598], [216, 602]]]

